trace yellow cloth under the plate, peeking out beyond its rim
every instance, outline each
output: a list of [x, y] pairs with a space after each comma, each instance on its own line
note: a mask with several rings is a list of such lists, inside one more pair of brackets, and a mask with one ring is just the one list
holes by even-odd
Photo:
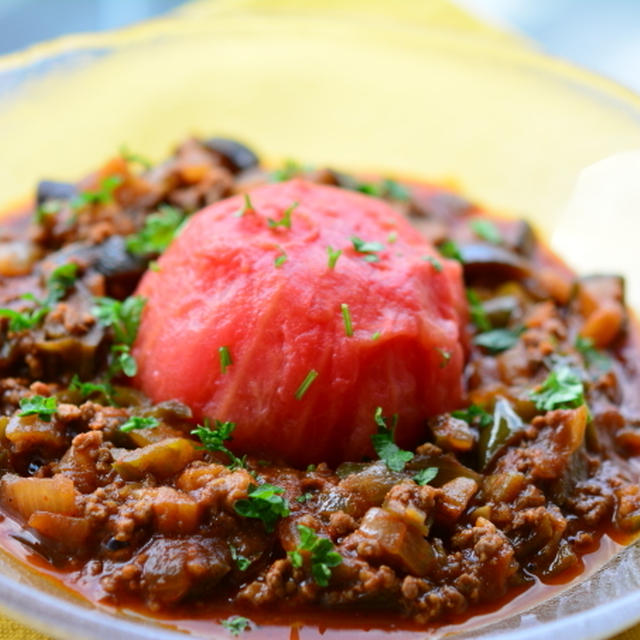
[[[159, 22], [166, 23], [167, 21], [180, 19], [180, 16], [190, 18], [196, 16], [205, 19], [211, 17], [211, 14], [233, 11], [233, 9], [238, 6], [245, 9], [255, 9], [256, 11], [269, 10], [275, 7], [291, 7], [299, 10], [300, 13], [306, 13], [313, 11], [314, 6], [317, 4], [318, 2], [315, 0], [308, 0], [305, 3], [300, 3], [299, 0], [200, 0], [179, 11], [176, 14], [177, 17], [150, 21], [143, 25], [124, 29], [117, 34], [77, 34], [64, 38], [63, 41], [70, 47], [87, 42], [109, 46], [114, 43], [127, 42], [147, 30], [152, 30], [154, 25], [157, 25]], [[342, 0], [322, 0], [321, 4], [325, 10], [327, 7], [330, 7], [331, 10], [335, 12], [336, 17], [358, 12], [362, 15], [371, 13], [374, 15], [388, 15], [389, 7], [394, 6], [387, 4], [385, 0], [378, 2], [372, 0], [351, 0], [349, 3], [344, 3]], [[344, 7], [347, 5], [348, 9], [345, 9]], [[401, 13], [398, 14], [396, 10], [400, 10]], [[527, 47], [526, 42], [520, 38], [499, 31], [476, 20], [458, 7], [447, 2], [447, 0], [429, 0], [428, 2], [416, 0], [415, 2], [408, 2], [406, 4], [398, 4], [394, 6], [393, 18], [410, 18], [414, 24], [420, 23], [427, 28], [464, 31], [474, 36], [482, 36], [486, 38], [487, 43], [499, 43], [502, 46], [512, 46], [514, 55], [518, 55], [519, 52]], [[27, 52], [0, 58], [0, 70], [19, 66], [28, 60], [41, 58], [51, 51], [59, 51], [60, 46], [61, 41], [53, 41], [51, 43], [38, 45]], [[47, 637], [0, 616], [0, 640], [47, 640]], [[640, 626], [616, 636], [615, 640], [640, 640]]]

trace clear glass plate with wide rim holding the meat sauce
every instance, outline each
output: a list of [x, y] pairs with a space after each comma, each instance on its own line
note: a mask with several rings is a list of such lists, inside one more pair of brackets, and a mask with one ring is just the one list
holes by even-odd
[[[0, 208], [39, 178], [81, 176], [123, 143], [160, 159], [192, 133], [246, 140], [272, 162], [442, 180], [551, 236], [583, 167], [640, 148], [640, 99], [441, 0], [195, 3], [0, 59]], [[606, 245], [589, 225], [568, 228], [568, 244]], [[614, 236], [599, 268], [618, 266], [616, 249], [633, 251], [631, 231]], [[632, 289], [638, 272], [631, 263]], [[640, 619], [639, 552], [628, 547], [544, 603], [519, 611], [526, 602], [516, 601], [507, 618], [462, 633], [610, 636]], [[65, 639], [184, 638], [98, 611], [5, 554], [0, 608]]]

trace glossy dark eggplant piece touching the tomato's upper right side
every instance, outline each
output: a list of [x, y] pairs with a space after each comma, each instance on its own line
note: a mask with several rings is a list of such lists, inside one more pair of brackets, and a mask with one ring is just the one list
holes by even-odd
[[499, 282], [534, 275], [529, 262], [504, 247], [477, 243], [460, 245], [459, 250], [465, 278]]

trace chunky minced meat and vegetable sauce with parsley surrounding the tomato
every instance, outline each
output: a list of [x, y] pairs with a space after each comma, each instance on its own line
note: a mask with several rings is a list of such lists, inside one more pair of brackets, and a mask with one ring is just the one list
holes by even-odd
[[[247, 457], [233, 423], [197, 424], [130, 383], [133, 294], [184, 221], [296, 176], [385, 199], [462, 264], [466, 402], [425, 420], [413, 451], [377, 411], [370, 459]], [[252, 611], [424, 625], [575, 573], [605, 531], [640, 528], [623, 280], [576, 277], [526, 222], [447, 189], [295, 163], [268, 172], [220, 138], [157, 166], [124, 151], [77, 185], [40, 183], [35, 210], [3, 223], [0, 307], [0, 528], [21, 523], [24, 544], [96, 600], [242, 612], [223, 623], [232, 633]], [[222, 349], [221, 366], [230, 358]]]

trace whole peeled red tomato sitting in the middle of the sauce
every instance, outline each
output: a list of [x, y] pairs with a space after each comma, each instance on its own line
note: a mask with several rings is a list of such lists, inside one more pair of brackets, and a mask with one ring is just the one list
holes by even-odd
[[[378, 406], [398, 414], [401, 446], [424, 441], [425, 418], [462, 401], [460, 265], [369, 196], [292, 180], [252, 191], [254, 209], [239, 216], [243, 202], [195, 214], [142, 279], [138, 387], [184, 402], [197, 420], [235, 422], [235, 451], [295, 465], [372, 456]], [[291, 228], [269, 226], [295, 202]], [[380, 260], [366, 261], [352, 236], [384, 244]], [[342, 249], [333, 269], [328, 246]]]

